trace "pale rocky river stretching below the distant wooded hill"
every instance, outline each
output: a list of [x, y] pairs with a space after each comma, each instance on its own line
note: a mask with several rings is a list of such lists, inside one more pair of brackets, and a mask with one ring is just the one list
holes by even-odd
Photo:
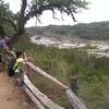
[[[38, 38], [37, 38], [38, 37]], [[31, 37], [31, 41], [37, 45], [44, 45], [46, 47], [57, 47], [59, 49], [69, 49], [69, 48], [81, 48], [81, 47], [87, 47], [88, 53], [96, 53], [99, 56], [109, 57], [109, 44], [108, 41], [104, 40], [87, 40], [87, 41], [74, 41], [63, 39], [58, 40], [52, 37], [46, 37], [46, 36], [33, 36]], [[88, 49], [88, 47], [90, 49]]]

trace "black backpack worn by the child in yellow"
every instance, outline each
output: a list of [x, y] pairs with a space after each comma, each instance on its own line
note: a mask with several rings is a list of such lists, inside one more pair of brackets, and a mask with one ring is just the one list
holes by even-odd
[[13, 75], [14, 75], [13, 66], [14, 66], [14, 64], [15, 64], [15, 61], [16, 61], [15, 58], [12, 58], [12, 59], [9, 61], [9, 64], [8, 64], [8, 75], [9, 75], [9, 76], [13, 76]]

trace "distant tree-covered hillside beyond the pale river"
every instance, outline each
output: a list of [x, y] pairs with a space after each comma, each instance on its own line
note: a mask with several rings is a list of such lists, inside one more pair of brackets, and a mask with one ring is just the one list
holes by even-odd
[[95, 22], [89, 24], [49, 25], [28, 27], [31, 35], [45, 35], [50, 37], [84, 38], [84, 39], [109, 39], [109, 22]]

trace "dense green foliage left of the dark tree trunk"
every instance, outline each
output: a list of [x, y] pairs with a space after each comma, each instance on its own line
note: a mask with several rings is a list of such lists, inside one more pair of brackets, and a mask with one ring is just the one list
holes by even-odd
[[5, 33], [5, 26], [11, 25], [11, 27], [16, 31], [16, 25], [14, 24], [14, 16], [15, 14], [12, 13], [12, 11], [9, 10], [9, 3], [4, 3], [2, 0], [0, 0], [0, 35], [4, 36]]

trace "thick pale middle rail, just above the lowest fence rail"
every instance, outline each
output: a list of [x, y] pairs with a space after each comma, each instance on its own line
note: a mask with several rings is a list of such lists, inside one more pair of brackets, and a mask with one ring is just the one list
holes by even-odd
[[27, 87], [33, 92], [33, 94], [36, 96], [38, 100], [40, 100], [41, 104], [47, 106], [49, 109], [64, 109], [60, 107], [59, 105], [52, 102], [46, 95], [39, 92], [28, 80], [26, 75], [24, 75], [24, 82], [27, 85]]

